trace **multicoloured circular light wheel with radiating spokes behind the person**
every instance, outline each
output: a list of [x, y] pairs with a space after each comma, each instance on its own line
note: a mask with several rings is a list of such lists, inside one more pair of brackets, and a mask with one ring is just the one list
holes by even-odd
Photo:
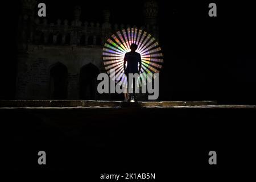
[[[110, 76], [116, 83], [127, 86], [127, 79], [123, 70], [123, 58], [130, 52], [130, 45], [138, 45], [136, 52], [141, 54], [142, 83], [146, 84], [148, 73], [159, 73], [163, 65], [163, 53], [159, 43], [146, 31], [138, 28], [127, 28], [113, 34], [104, 44], [103, 62], [108, 75], [110, 70], [115, 70], [115, 75]], [[150, 80], [148, 80], [150, 81]]]

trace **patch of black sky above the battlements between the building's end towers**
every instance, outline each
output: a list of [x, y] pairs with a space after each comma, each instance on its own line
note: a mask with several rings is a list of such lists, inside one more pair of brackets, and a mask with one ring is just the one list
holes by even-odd
[[[44, 0], [47, 5], [47, 16], [51, 22], [56, 23], [60, 19], [73, 19], [73, 7], [79, 5], [82, 8], [81, 20], [84, 22], [102, 22], [102, 10], [109, 9], [112, 13], [111, 22], [141, 24], [143, 23], [143, 1], [49, 1]], [[61, 6], [60, 6], [61, 4]]]

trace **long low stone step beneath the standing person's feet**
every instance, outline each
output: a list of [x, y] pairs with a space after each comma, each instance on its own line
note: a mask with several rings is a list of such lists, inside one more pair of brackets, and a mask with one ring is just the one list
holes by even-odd
[[121, 102], [81, 100], [0, 100], [0, 107], [168, 107], [217, 105], [217, 101]]

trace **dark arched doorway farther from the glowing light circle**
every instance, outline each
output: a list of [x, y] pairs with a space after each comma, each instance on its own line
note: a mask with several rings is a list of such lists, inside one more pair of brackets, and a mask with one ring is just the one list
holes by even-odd
[[56, 63], [50, 70], [50, 98], [66, 99], [68, 90], [68, 69], [62, 63]]

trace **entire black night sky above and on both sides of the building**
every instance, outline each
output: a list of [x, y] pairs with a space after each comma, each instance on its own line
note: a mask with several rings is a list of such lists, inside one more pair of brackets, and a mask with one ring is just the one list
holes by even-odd
[[[111, 23], [143, 24], [143, 1], [42, 1], [49, 22], [73, 18], [81, 5], [82, 21], [102, 22], [102, 9], [111, 10]], [[218, 100], [256, 104], [256, 35], [253, 5], [246, 1], [218, 2], [217, 17], [208, 16], [212, 1], [159, 1], [160, 44], [164, 68], [161, 100]], [[2, 98], [14, 98], [16, 19], [19, 4], [3, 13], [8, 62], [2, 76]], [[13, 9], [13, 13], [11, 12]], [[8, 16], [8, 19], [6, 18]], [[4, 72], [4, 73], [5, 73]], [[2, 72], [3, 73], [3, 72]]]

